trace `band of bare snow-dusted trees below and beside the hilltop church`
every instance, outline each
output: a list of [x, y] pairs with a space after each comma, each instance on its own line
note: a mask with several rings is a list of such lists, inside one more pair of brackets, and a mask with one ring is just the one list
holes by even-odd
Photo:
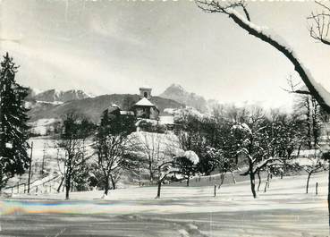
[[[269, 182], [270, 176], [283, 177], [304, 170], [309, 174], [308, 190], [310, 176], [328, 166], [322, 159], [326, 151], [320, 149], [321, 125], [326, 114], [316, 103], [311, 104], [316, 105], [312, 110], [301, 107], [306, 97], [311, 99], [297, 97], [292, 114], [266, 111], [259, 106], [218, 105], [211, 114], [202, 115], [193, 114], [188, 108], [178, 109], [174, 114], [175, 128], [170, 132], [135, 132], [136, 118], [130, 115], [105, 111], [101, 122], [95, 125], [82, 117], [72, 119], [74, 114], [68, 114], [59, 137], [59, 146], [67, 153], [63, 160], [67, 198], [75, 170], [77, 176], [81, 171], [74, 165], [86, 165], [90, 157], [89, 185], [105, 190], [105, 195], [123, 177], [135, 177], [146, 184], [146, 175], [148, 185], [157, 184], [157, 198], [163, 183], [185, 180], [189, 186], [190, 178], [196, 174], [219, 174], [220, 189], [225, 175], [232, 175], [235, 182], [238, 170], [240, 175], [249, 177], [254, 198], [260, 187], [260, 174], [267, 174]], [[75, 131], [79, 127], [81, 131]], [[81, 148], [88, 138], [92, 148], [89, 155]], [[299, 157], [306, 150], [315, 156], [306, 157], [309, 162], [301, 163]]]

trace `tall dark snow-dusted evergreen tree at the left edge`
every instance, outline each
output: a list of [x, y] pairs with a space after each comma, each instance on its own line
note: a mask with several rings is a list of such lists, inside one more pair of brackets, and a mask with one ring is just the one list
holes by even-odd
[[6, 53], [0, 71], [0, 188], [29, 165], [28, 109], [24, 106], [28, 89], [16, 82], [17, 69]]

